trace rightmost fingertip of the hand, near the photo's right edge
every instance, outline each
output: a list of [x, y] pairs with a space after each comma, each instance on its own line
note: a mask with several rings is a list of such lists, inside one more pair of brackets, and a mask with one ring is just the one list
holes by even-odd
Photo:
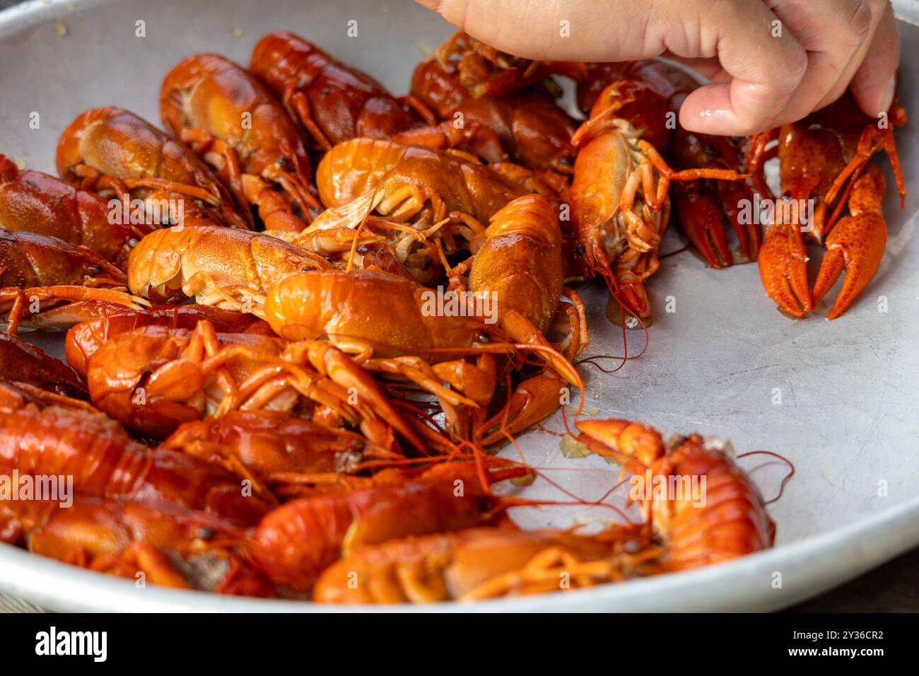
[[877, 117], [891, 109], [900, 63], [900, 34], [893, 8], [887, 5], [880, 18], [865, 60], [852, 78], [852, 94], [866, 115]]

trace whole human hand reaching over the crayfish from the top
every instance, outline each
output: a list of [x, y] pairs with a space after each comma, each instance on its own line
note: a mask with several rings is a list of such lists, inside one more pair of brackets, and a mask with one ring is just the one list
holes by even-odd
[[528, 59], [686, 63], [712, 82], [680, 109], [693, 132], [762, 132], [832, 103], [850, 84], [859, 107], [876, 117], [891, 106], [900, 61], [888, 0], [417, 2]]

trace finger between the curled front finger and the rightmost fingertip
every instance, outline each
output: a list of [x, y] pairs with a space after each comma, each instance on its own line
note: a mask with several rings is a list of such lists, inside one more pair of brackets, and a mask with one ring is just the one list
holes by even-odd
[[[775, 124], [800, 120], [845, 90], [876, 21], [866, 0], [767, 0], [808, 52], [807, 73]], [[877, 3], [875, 3], [877, 4]], [[880, 12], [878, 11], [878, 20]]]

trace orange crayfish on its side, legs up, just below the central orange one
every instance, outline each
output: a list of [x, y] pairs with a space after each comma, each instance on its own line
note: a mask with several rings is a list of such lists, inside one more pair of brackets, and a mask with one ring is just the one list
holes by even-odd
[[205, 415], [290, 411], [312, 402], [359, 424], [374, 441], [386, 443], [394, 429], [416, 450], [425, 449], [369, 373], [319, 340], [218, 334], [206, 320], [190, 331], [142, 327], [96, 351], [86, 381], [97, 407], [154, 438]]

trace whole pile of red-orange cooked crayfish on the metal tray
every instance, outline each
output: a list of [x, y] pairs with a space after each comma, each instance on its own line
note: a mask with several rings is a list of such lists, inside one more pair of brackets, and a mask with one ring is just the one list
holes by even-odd
[[[0, 493], [0, 540], [153, 584], [340, 603], [582, 588], [770, 547], [759, 490], [698, 434], [563, 415], [585, 452], [655, 486], [603, 503], [624, 519], [593, 530], [518, 528], [509, 510], [546, 503], [515, 486], [548, 478], [493, 454], [584, 400], [574, 283], [600, 277], [623, 328], [650, 325], [671, 212], [710, 266], [758, 261], [789, 315], [845, 270], [841, 315], [878, 269], [870, 160], [890, 156], [902, 202], [904, 111], [879, 124], [846, 95], [714, 137], [670, 123], [695, 86], [664, 62], [533, 62], [459, 33], [393, 97], [277, 33], [247, 68], [177, 63], [166, 131], [90, 109], [62, 132], [58, 177], [0, 155], [0, 475], [73, 489]], [[773, 158], [782, 197], [815, 206], [775, 209], [764, 235], [744, 208], [776, 200]], [[807, 244], [826, 249], [812, 291]], [[67, 329], [66, 363], [29, 329]], [[689, 477], [701, 498], [674, 489]]]

